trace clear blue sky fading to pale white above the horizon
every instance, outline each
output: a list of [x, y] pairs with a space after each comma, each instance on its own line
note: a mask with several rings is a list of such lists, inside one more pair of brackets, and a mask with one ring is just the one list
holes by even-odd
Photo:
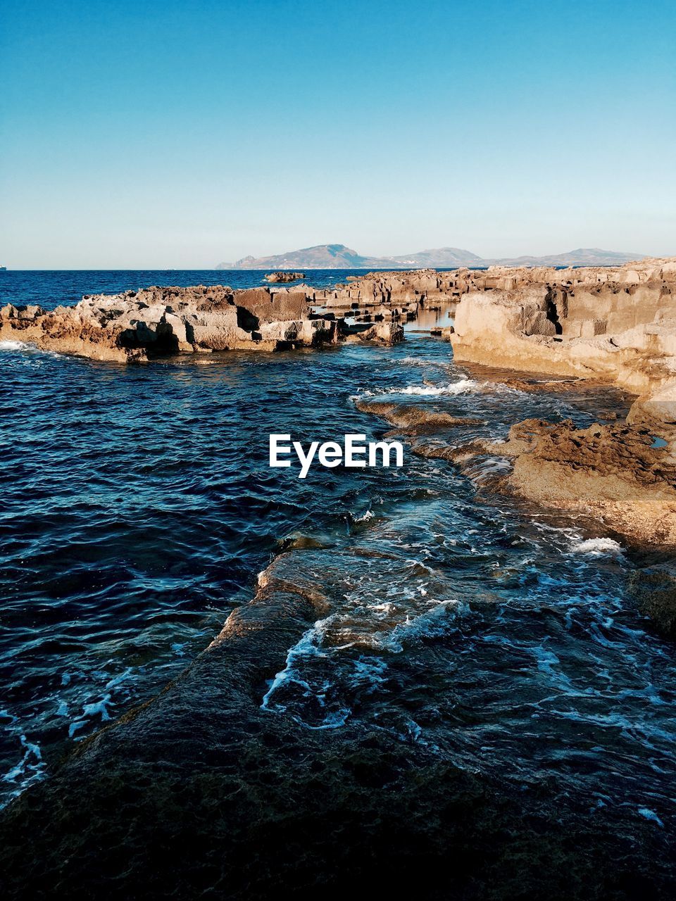
[[0, 262], [676, 254], [676, 4], [0, 5]]

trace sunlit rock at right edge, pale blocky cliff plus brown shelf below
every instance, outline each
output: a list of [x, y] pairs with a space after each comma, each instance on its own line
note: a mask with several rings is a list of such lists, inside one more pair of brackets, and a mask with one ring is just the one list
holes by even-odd
[[[636, 541], [676, 545], [676, 260], [491, 267], [470, 282], [455, 313], [455, 359], [613, 382], [638, 396], [617, 427], [515, 426], [506, 444], [487, 449], [514, 460], [504, 484], [537, 503], [593, 514]], [[430, 452], [467, 459], [457, 448]]]

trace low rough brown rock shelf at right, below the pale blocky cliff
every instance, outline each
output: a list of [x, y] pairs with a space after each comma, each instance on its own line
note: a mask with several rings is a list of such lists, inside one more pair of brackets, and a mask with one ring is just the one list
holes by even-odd
[[507, 441], [462, 441], [456, 434], [451, 442], [444, 431], [477, 421], [421, 405], [363, 399], [356, 405], [411, 436], [438, 436], [434, 443], [413, 441], [412, 451], [420, 456], [461, 469], [481, 457], [512, 461], [507, 475], [486, 479], [483, 487], [584, 514], [638, 544], [676, 547], [676, 456], [667, 445], [656, 447], [649, 430], [627, 423], [579, 429], [570, 420], [531, 419], [513, 425]]

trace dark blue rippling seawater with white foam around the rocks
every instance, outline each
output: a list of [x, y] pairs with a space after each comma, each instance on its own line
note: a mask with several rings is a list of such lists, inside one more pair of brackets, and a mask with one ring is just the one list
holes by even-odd
[[[313, 273], [326, 285], [349, 273]], [[239, 280], [238, 280], [239, 279]], [[49, 306], [260, 273], [0, 273]], [[613, 389], [525, 393], [415, 328], [394, 348], [227, 353], [123, 367], [0, 346], [0, 788], [11, 799], [151, 697], [219, 632], [288, 540], [321, 542], [333, 611], [260, 704], [297, 729], [352, 718], [593, 816], [673, 828], [676, 655], [626, 584], [642, 560], [594, 523], [496, 496], [410, 451], [401, 469], [269, 469], [268, 435], [380, 438], [359, 396], [499, 439], [529, 416], [626, 413]], [[299, 557], [302, 560], [302, 555]]]

